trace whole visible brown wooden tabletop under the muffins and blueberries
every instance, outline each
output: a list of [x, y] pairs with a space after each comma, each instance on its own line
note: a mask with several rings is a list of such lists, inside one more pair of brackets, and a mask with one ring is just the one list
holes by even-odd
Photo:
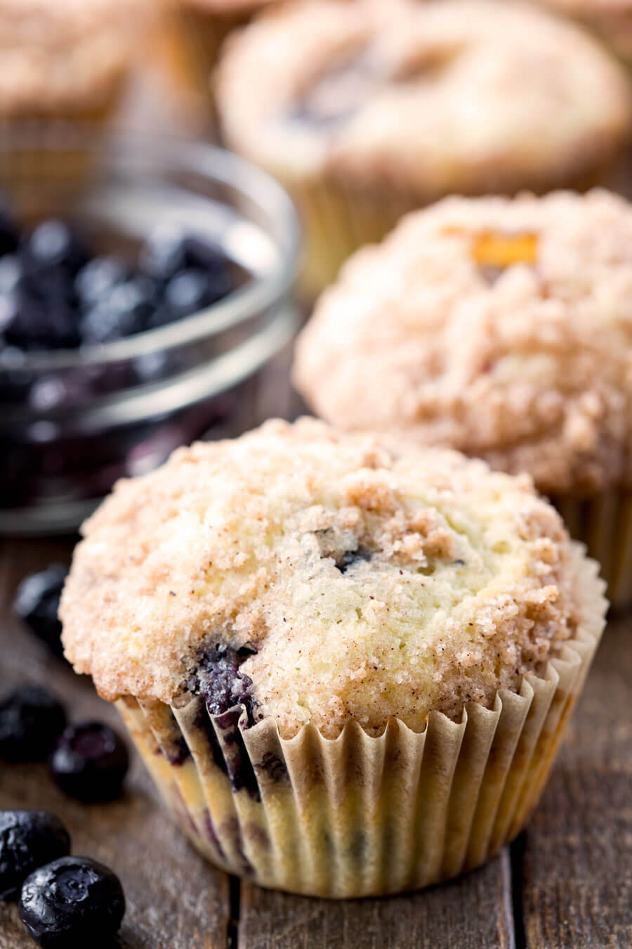
[[[296, 415], [286, 370], [287, 354], [267, 369], [261, 418], [273, 408]], [[69, 560], [72, 546], [72, 538], [0, 541], [0, 695], [25, 680], [43, 682], [71, 717], [117, 724], [90, 681], [11, 615], [19, 581]], [[0, 764], [0, 808], [55, 811], [73, 852], [116, 869], [127, 897], [119, 940], [126, 949], [624, 949], [632, 946], [631, 622], [609, 623], [526, 832], [490, 864], [425, 892], [328, 902], [229, 878], [172, 826], [136, 756], [125, 797], [101, 806], [63, 797], [43, 766]], [[0, 903], [0, 949], [32, 945], [15, 908]]]

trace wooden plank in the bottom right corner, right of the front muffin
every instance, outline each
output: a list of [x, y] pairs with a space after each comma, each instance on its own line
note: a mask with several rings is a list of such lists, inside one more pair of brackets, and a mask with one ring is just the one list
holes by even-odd
[[515, 865], [530, 949], [632, 945], [631, 626], [605, 631]]

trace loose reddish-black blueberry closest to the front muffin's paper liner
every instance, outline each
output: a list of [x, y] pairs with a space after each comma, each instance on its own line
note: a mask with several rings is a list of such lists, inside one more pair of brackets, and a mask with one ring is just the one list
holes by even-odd
[[62, 791], [80, 801], [112, 801], [121, 791], [130, 759], [125, 744], [108, 725], [69, 725], [50, 758]]

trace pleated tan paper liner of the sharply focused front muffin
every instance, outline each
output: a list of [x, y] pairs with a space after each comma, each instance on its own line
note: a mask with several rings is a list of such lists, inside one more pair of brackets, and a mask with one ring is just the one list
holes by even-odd
[[325, 897], [436, 884], [483, 863], [524, 827], [547, 780], [605, 624], [598, 567], [578, 546], [581, 622], [543, 676], [422, 733], [390, 719], [280, 737], [244, 709], [117, 702], [162, 796], [215, 865], [262, 886]]

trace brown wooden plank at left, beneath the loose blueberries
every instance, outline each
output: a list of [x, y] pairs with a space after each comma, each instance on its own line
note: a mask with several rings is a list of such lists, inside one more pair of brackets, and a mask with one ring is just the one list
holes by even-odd
[[[51, 657], [7, 609], [22, 576], [52, 559], [67, 560], [70, 549], [56, 541], [11, 541], [0, 548], [0, 694], [25, 680], [42, 682], [63, 698], [70, 716], [99, 718], [122, 730], [114, 708], [99, 699], [90, 681]], [[117, 871], [127, 899], [121, 947], [226, 949], [228, 878], [202, 860], [166, 818], [135, 754], [125, 796], [90, 807], [64, 797], [45, 766], [0, 763], [0, 808], [54, 811], [70, 830], [74, 853]], [[0, 949], [32, 947], [15, 907], [0, 903]]]

